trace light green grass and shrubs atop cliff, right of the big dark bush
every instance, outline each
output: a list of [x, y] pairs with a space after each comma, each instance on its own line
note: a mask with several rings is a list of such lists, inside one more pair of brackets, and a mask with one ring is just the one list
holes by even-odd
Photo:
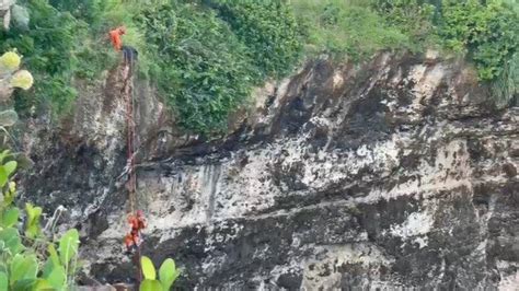
[[[519, 100], [517, 0], [293, 0], [309, 53], [362, 60], [381, 49], [466, 57], [498, 106]], [[514, 101], [516, 98], [516, 101]]]

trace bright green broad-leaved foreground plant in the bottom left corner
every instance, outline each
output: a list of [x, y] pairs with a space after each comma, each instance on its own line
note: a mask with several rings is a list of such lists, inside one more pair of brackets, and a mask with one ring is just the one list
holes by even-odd
[[77, 270], [79, 233], [69, 230], [58, 241], [49, 241], [39, 226], [42, 208], [27, 203], [25, 236], [20, 234], [18, 228], [22, 211], [13, 203], [16, 189], [14, 182], [9, 181], [16, 170], [16, 162], [5, 162], [8, 159], [9, 151], [3, 151], [0, 154], [0, 188], [3, 196], [0, 202], [0, 289], [69, 289]]

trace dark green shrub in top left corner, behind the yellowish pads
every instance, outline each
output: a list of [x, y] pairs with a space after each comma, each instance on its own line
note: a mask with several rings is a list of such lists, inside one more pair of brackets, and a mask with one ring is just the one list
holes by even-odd
[[76, 97], [71, 75], [77, 66], [76, 48], [83, 28], [68, 13], [60, 13], [46, 0], [28, 1], [28, 31], [13, 27], [0, 32], [0, 50], [16, 48], [35, 77], [33, 91], [18, 92], [16, 107], [27, 109], [42, 103], [57, 113], [66, 112]]

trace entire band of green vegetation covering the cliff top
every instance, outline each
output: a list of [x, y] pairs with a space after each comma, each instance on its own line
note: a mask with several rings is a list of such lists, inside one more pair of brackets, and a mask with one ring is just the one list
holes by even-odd
[[16, 108], [67, 114], [74, 79], [95, 81], [117, 63], [106, 33], [127, 27], [139, 73], [186, 130], [226, 129], [253, 86], [289, 74], [322, 53], [361, 61], [379, 50], [432, 47], [472, 60], [506, 105], [518, 88], [516, 0], [25, 0], [28, 30], [0, 32], [18, 48], [37, 85], [15, 94]]

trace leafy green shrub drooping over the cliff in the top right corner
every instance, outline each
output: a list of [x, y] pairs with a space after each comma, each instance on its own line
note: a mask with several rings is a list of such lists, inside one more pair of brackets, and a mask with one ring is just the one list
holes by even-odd
[[446, 0], [442, 20], [440, 34], [447, 47], [466, 54], [480, 80], [492, 81], [498, 106], [514, 103], [519, 88], [518, 4]]

